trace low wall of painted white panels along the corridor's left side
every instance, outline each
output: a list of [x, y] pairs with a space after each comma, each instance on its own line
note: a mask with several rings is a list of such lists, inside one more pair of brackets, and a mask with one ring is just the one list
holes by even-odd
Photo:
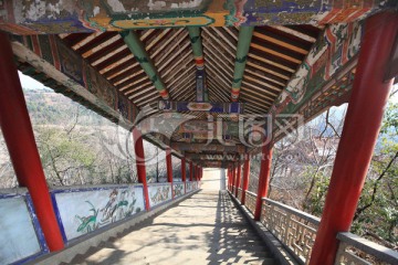
[[[148, 184], [150, 208], [198, 189], [198, 182]], [[142, 184], [65, 187], [50, 191], [63, 240], [82, 235], [145, 211]], [[0, 190], [0, 265], [21, 264], [49, 253], [27, 189]]]

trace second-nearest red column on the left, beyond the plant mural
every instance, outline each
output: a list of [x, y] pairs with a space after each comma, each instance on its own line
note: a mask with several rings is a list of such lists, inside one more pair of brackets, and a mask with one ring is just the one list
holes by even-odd
[[150, 206], [149, 206], [148, 184], [146, 182], [144, 142], [140, 131], [136, 128], [133, 129], [133, 140], [134, 140], [134, 152], [136, 159], [138, 182], [143, 183], [145, 209], [149, 211]]

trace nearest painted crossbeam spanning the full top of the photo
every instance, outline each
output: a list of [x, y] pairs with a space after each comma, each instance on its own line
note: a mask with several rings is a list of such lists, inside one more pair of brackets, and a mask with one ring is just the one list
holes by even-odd
[[394, 9], [396, 0], [10, 0], [0, 29], [18, 34], [119, 31], [188, 25], [326, 24]]

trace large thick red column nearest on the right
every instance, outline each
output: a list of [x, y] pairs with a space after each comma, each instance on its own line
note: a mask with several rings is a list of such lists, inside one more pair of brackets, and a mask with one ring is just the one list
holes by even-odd
[[392, 80], [384, 82], [384, 76], [397, 32], [397, 13], [378, 13], [365, 23], [353, 93], [310, 264], [334, 264], [336, 234], [349, 231], [392, 86]]

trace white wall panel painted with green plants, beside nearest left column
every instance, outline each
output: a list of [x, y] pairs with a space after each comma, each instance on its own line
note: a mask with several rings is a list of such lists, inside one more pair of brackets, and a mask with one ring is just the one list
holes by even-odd
[[51, 191], [66, 241], [145, 210], [142, 186]]

